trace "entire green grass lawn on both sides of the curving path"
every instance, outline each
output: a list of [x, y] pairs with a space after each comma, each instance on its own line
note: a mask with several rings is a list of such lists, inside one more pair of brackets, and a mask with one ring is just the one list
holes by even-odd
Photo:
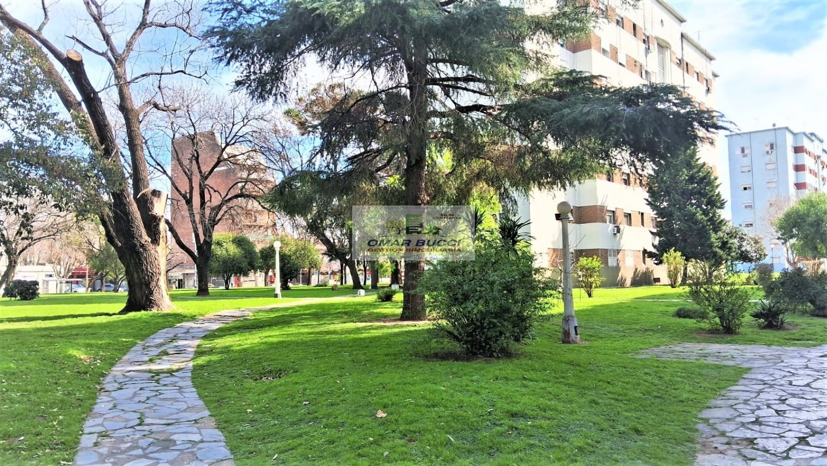
[[[351, 293], [294, 288], [283, 300], [294, 307], [257, 311], [204, 341], [198, 391], [240, 464], [687, 463], [695, 416], [744, 369], [629, 354], [677, 341], [827, 342], [823, 319], [708, 335], [671, 317], [680, 302], [629, 301], [673, 299], [671, 288], [605, 289], [600, 300], [576, 300], [587, 345], [558, 345], [556, 315], [519, 358], [435, 361], [421, 357], [434, 348], [425, 326], [370, 322], [399, 316], [399, 304], [302, 304]], [[99, 380], [146, 336], [213, 311], [274, 303], [271, 288], [171, 294], [176, 311], [127, 316], [115, 314], [123, 293], [0, 301], [0, 464], [71, 461]], [[388, 416], [376, 418], [379, 409]]]

